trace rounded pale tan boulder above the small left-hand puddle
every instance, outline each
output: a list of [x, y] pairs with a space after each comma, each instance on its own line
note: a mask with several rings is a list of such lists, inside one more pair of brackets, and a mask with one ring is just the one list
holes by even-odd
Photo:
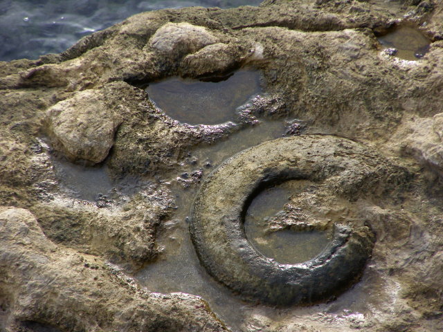
[[46, 112], [57, 147], [71, 160], [103, 161], [121, 122], [100, 91], [80, 91]]

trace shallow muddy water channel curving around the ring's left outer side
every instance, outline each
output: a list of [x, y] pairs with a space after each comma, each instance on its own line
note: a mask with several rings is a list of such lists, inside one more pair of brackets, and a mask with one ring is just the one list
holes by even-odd
[[[267, 121], [246, 128], [227, 140], [208, 147], [190, 151], [192, 163], [184, 165], [183, 171], [203, 169], [201, 181], [226, 158], [266, 140], [279, 138], [285, 131], [284, 121]], [[221, 320], [239, 331], [247, 308], [251, 304], [237, 299], [226, 287], [215, 282], [201, 266], [190, 239], [187, 218], [197, 194], [197, 186], [183, 187], [179, 181], [171, 181], [177, 211], [174, 220], [165, 225], [159, 238], [163, 248], [159, 261], [150, 264], [134, 277], [150, 291], [159, 293], [183, 292], [203, 297]]]

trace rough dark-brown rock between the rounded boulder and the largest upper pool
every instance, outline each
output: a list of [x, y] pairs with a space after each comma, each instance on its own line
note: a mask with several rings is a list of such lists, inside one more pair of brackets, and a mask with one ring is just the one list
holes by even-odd
[[[225, 138], [237, 126], [233, 122], [190, 125], [167, 116], [150, 102], [145, 91], [129, 84], [110, 86], [110, 92], [125, 100], [124, 120], [116, 133], [109, 167], [116, 174], [149, 174], [179, 165], [190, 147]], [[124, 99], [123, 99], [124, 98]]]

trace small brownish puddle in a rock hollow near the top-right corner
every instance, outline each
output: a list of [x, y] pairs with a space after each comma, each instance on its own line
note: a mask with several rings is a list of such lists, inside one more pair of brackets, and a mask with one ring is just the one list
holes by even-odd
[[395, 28], [390, 33], [378, 38], [388, 55], [400, 59], [417, 60], [424, 57], [431, 45], [431, 40], [419, 30], [408, 26]]

